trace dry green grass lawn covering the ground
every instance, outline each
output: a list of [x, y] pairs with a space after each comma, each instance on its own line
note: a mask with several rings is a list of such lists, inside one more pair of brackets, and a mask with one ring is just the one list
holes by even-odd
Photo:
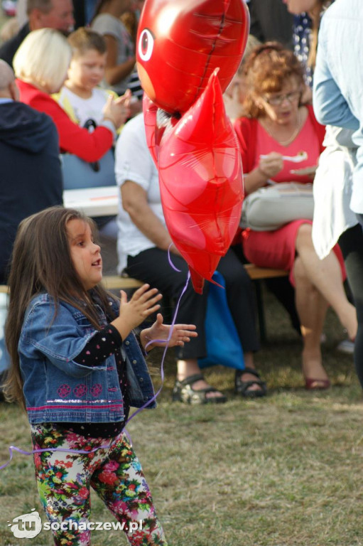
[[[268, 397], [235, 397], [232, 370], [216, 367], [206, 375], [228, 395], [227, 404], [172, 404], [170, 353], [157, 410], [146, 410], [129, 424], [169, 544], [363, 545], [362, 392], [352, 357], [335, 350], [344, 333], [330, 311], [323, 353], [333, 386], [307, 392], [300, 340], [271, 296], [265, 299], [269, 343], [256, 363]], [[156, 353], [153, 365], [159, 363]], [[30, 447], [26, 416], [13, 405], [0, 405], [0, 434], [1, 462], [8, 459], [9, 444]], [[7, 520], [31, 508], [42, 514], [32, 461], [15, 454], [0, 471], [0, 546], [19, 544]], [[92, 520], [112, 520], [96, 496], [92, 510]], [[50, 543], [45, 531], [29, 542]], [[92, 535], [94, 546], [115, 544], [126, 545], [117, 532]]]

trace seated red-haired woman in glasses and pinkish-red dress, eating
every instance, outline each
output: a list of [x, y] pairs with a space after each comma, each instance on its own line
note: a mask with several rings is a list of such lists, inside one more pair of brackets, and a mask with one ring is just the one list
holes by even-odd
[[[318, 164], [324, 127], [316, 121], [310, 106], [300, 105], [303, 69], [293, 53], [276, 42], [256, 48], [245, 65], [249, 90], [246, 117], [237, 119], [246, 193], [271, 183], [308, 183], [312, 176], [304, 168]], [[298, 167], [286, 156], [305, 152], [308, 159]], [[345, 296], [345, 270], [338, 247], [320, 260], [311, 237], [310, 220], [301, 218], [275, 231], [243, 233], [244, 254], [261, 267], [290, 271], [296, 287], [296, 308], [303, 336], [303, 375], [308, 389], [330, 386], [323, 368], [320, 338], [327, 306], [337, 312], [350, 338], [357, 333], [354, 306]]]

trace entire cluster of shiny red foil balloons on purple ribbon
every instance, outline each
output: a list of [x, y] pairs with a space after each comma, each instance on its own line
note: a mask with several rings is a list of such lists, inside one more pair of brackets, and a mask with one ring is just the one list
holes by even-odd
[[239, 145], [222, 92], [248, 31], [243, 0], [146, 0], [139, 22], [148, 146], [166, 226], [199, 293], [204, 279], [212, 281], [241, 215]]

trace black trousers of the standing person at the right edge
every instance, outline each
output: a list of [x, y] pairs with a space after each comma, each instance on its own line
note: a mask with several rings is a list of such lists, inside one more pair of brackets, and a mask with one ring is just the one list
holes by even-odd
[[347, 277], [357, 309], [358, 331], [354, 343], [354, 365], [363, 387], [363, 231], [362, 225], [354, 225], [339, 238]]

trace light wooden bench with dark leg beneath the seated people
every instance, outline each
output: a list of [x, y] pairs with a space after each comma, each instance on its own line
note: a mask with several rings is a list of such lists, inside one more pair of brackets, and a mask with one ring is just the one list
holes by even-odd
[[[288, 272], [283, 269], [269, 269], [266, 267], [257, 267], [254, 264], [244, 265], [246, 272], [249, 274], [249, 278], [254, 282], [256, 289], [256, 304], [259, 320], [259, 332], [261, 336], [261, 342], [266, 341], [266, 320], [264, 312], [264, 301], [262, 299], [262, 287], [261, 281], [264, 279], [273, 279], [276, 277], [287, 277]], [[135, 290], [143, 285], [143, 282], [131, 277], [119, 277], [119, 275], [105, 275], [103, 277], [103, 284], [107, 290]], [[0, 293], [6, 293], [8, 287], [6, 284], [0, 284]]]

